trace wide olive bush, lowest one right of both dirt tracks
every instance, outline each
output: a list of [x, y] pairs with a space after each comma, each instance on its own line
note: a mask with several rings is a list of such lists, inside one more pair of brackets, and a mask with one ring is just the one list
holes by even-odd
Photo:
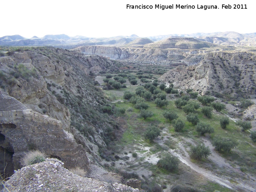
[[213, 146], [217, 151], [229, 152], [237, 146], [237, 142], [226, 137], [216, 137], [213, 139]]

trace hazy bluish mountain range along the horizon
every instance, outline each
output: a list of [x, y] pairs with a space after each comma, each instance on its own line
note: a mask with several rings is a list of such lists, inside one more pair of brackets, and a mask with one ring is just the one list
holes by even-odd
[[33, 36], [25, 38], [20, 35], [0, 37], [0, 45], [6, 46], [45, 46], [52, 45], [61, 48], [76, 48], [78, 46], [103, 45], [117, 47], [146, 47], [153, 42], [164, 39], [189, 37], [205, 43], [231, 46], [256, 46], [256, 33], [240, 34], [236, 32], [215, 32], [215, 33], [193, 33], [193, 34], [169, 34], [159, 36], [139, 37], [115, 36], [110, 38], [92, 38], [85, 36], [70, 37], [65, 34], [46, 35], [42, 38]]

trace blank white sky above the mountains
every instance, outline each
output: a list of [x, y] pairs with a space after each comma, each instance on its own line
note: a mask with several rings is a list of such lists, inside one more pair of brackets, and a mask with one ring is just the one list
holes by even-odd
[[[243, 8], [241, 9], [241, 3]], [[129, 5], [152, 5], [152, 9], [127, 9]], [[174, 5], [157, 9], [156, 4]], [[194, 5], [195, 9], [176, 9]], [[230, 9], [222, 8], [230, 5]], [[240, 9], [234, 9], [234, 4]], [[198, 9], [216, 5], [218, 9]], [[256, 1], [252, 0], [2, 0], [0, 37], [66, 34], [68, 36], [140, 37], [235, 31], [255, 33]]]

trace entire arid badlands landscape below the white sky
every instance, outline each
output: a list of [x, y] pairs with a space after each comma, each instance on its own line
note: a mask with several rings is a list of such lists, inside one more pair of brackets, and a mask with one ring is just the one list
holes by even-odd
[[[134, 178], [145, 191], [255, 191], [255, 38], [1, 37], [3, 190], [24, 180], [31, 191], [52, 191], [65, 186], [58, 179], [66, 191], [94, 191], [92, 182], [99, 191], [132, 191], [118, 183]], [[233, 144], [221, 149], [218, 139]], [[209, 152], [195, 157], [195, 147]], [[22, 168], [31, 150], [52, 159]], [[49, 183], [37, 167], [50, 170], [50, 162], [64, 168], [53, 168]], [[74, 167], [85, 178], [68, 171]]]

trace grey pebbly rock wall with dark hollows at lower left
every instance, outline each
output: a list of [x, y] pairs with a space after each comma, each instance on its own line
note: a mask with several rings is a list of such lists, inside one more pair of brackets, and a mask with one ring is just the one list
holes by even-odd
[[28, 109], [3, 93], [0, 93], [0, 103], [7, 106], [0, 111], [0, 146], [6, 154], [12, 154], [12, 159], [5, 159], [5, 173], [8, 176], [12, 175], [14, 169], [21, 168], [24, 152], [32, 149], [61, 159], [67, 167], [81, 166], [88, 169], [86, 150], [77, 144], [71, 133], [63, 129], [61, 121]]

